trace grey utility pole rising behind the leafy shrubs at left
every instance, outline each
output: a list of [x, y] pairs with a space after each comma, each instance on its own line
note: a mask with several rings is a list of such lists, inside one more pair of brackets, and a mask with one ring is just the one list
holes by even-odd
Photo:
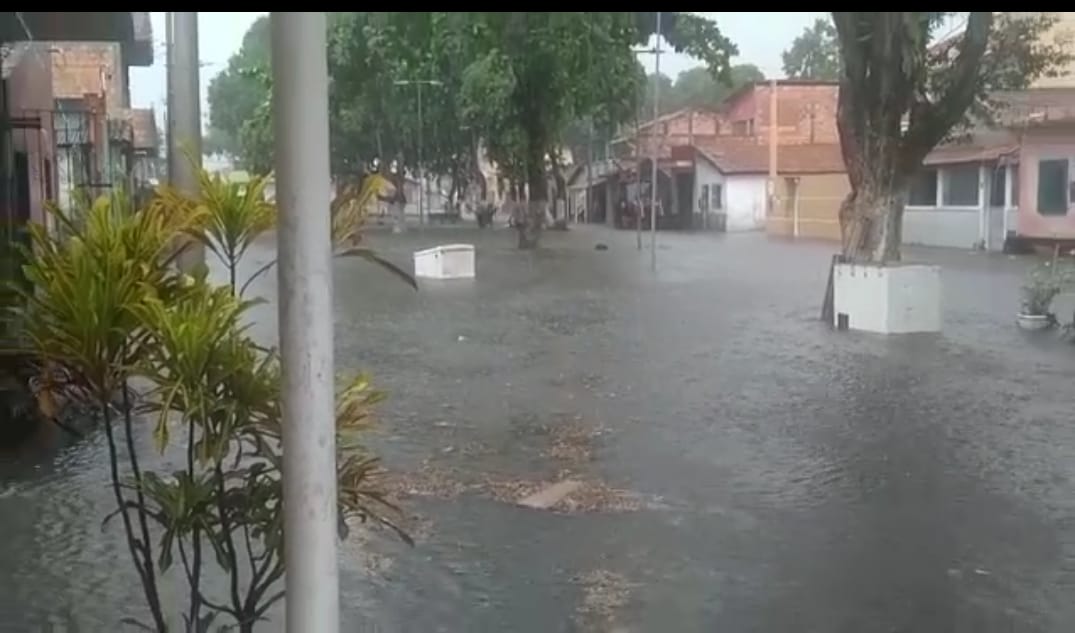
[[[172, 113], [172, 135], [169, 139], [169, 160], [172, 185], [188, 195], [199, 189], [201, 173], [201, 98], [198, 80], [198, 13], [176, 12], [172, 15], [172, 73], [169, 85], [169, 112]], [[205, 261], [205, 249], [190, 240], [180, 258], [181, 270], [190, 271]]]

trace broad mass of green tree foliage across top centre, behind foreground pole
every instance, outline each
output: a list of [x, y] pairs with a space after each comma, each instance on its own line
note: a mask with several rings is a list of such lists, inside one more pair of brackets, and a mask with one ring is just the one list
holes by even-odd
[[[673, 49], [713, 80], [731, 80], [736, 49], [714, 23], [673, 12], [660, 21]], [[656, 23], [653, 12], [330, 14], [333, 171], [355, 173], [373, 159], [414, 168], [420, 139], [426, 170], [465, 183], [477, 176], [482, 145], [543, 205], [548, 167], [578, 121], [611, 136], [636, 116], [645, 76], [633, 47]], [[213, 127], [238, 140], [252, 168], [272, 160], [268, 86], [252, 72], [268, 63], [264, 24], [210, 88]], [[713, 91], [698, 77], [694, 89]]]

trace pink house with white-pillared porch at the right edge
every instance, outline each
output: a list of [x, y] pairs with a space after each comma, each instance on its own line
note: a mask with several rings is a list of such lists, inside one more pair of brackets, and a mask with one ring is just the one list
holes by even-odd
[[942, 145], [916, 175], [904, 242], [1003, 250], [1075, 242], [1075, 90], [999, 95], [1002, 127]]

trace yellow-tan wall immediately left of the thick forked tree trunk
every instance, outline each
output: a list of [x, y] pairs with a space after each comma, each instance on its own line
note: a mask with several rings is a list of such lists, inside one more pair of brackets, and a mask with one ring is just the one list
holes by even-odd
[[[789, 177], [799, 179], [794, 191]], [[773, 235], [794, 235], [798, 198], [798, 236], [840, 241], [840, 205], [849, 191], [847, 174], [782, 174], [776, 179], [776, 207], [765, 218], [765, 230]]]

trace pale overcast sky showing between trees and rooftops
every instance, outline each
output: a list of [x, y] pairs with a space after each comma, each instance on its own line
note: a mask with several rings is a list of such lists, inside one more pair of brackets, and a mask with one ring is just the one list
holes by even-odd
[[[207, 90], [210, 80], [225, 68], [243, 43], [243, 35], [250, 24], [264, 13], [202, 12], [198, 14], [198, 52], [201, 68], [202, 120], [209, 116]], [[765, 76], [783, 76], [780, 53], [791, 45], [802, 30], [823, 13], [701, 13], [716, 20], [725, 37], [740, 49], [733, 63], [754, 63]], [[134, 107], [155, 107], [163, 112], [167, 95], [164, 71], [164, 14], [150, 14], [154, 37], [154, 64], [131, 68], [131, 104]], [[648, 71], [654, 69], [654, 56], [641, 55], [640, 60]], [[676, 53], [661, 55], [661, 72], [673, 78], [680, 71], [698, 66], [698, 61]]]

